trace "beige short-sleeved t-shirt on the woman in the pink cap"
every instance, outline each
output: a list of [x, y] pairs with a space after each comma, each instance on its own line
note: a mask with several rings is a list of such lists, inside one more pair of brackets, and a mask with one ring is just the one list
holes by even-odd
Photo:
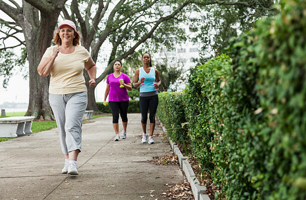
[[[42, 57], [50, 57], [53, 48], [56, 47], [57, 45], [48, 47]], [[89, 57], [89, 52], [83, 46], [75, 46], [75, 50], [69, 54], [58, 52], [50, 71], [49, 93], [68, 94], [87, 91], [83, 69]]]

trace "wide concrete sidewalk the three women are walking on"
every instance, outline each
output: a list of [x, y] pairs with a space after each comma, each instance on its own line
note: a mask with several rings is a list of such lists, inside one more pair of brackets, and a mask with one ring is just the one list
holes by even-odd
[[[60, 173], [64, 159], [57, 128], [0, 142], [0, 199], [167, 199], [161, 194], [165, 184], [183, 182], [183, 174], [178, 165], [149, 160], [170, 154], [170, 145], [162, 137], [142, 144], [137, 113], [128, 114], [127, 138], [113, 141], [111, 119], [83, 124], [76, 176]], [[156, 125], [154, 133], [160, 132]]]

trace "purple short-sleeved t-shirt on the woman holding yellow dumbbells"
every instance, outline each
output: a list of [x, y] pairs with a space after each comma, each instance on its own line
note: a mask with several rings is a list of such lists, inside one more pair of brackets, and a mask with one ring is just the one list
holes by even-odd
[[124, 83], [129, 83], [129, 77], [122, 73], [116, 78], [113, 73], [107, 75], [106, 83], [109, 84], [108, 101], [124, 101], [128, 100], [126, 88], [120, 88], [119, 79], [123, 79]]

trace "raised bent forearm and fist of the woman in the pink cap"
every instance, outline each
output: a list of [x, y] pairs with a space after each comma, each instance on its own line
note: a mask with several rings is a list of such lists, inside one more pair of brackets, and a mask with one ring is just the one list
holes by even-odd
[[50, 71], [53, 67], [54, 60], [59, 52], [58, 45], [56, 47], [53, 47], [53, 53], [50, 57], [42, 57], [38, 66], [37, 71], [38, 74], [41, 76], [47, 76], [50, 74]]

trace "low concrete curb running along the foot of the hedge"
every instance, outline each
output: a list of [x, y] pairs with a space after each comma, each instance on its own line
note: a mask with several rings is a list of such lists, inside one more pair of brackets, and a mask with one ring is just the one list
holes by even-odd
[[[166, 128], [162, 125], [161, 122], [160, 122], [160, 126], [162, 127], [162, 130], [166, 132]], [[201, 186], [199, 184], [199, 181], [197, 180], [193, 172], [192, 166], [187, 160], [188, 157], [182, 155], [182, 153], [180, 152], [175, 142], [173, 142], [169, 138], [168, 140], [169, 140], [169, 143], [171, 145], [173, 152], [177, 155], [177, 159], [178, 159], [180, 168], [183, 170], [188, 182], [190, 183], [191, 190], [194, 196], [194, 200], [210, 200], [209, 196], [205, 193], [206, 187]]]

